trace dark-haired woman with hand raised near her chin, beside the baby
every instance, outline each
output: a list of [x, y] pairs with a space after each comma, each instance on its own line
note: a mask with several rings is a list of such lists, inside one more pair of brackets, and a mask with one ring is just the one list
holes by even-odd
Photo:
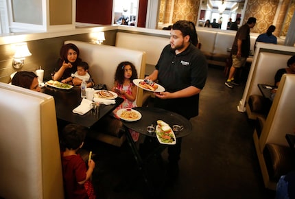
[[[77, 71], [77, 65], [82, 60], [79, 58], [79, 49], [73, 43], [62, 45], [58, 65], [52, 75], [53, 80], [64, 80]], [[75, 84], [75, 82], [73, 82]]]

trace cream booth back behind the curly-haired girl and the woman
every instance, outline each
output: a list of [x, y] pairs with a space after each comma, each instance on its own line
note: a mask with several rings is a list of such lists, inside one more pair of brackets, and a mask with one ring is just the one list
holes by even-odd
[[[89, 73], [96, 84], [106, 84], [108, 89], [113, 88], [115, 71], [120, 62], [128, 61], [137, 69], [140, 79], [145, 73], [145, 52], [113, 47], [109, 45], [97, 45], [78, 40], [67, 40], [65, 44], [73, 43], [80, 50], [80, 58], [89, 65]], [[143, 104], [143, 89], [137, 89], [137, 106]]]

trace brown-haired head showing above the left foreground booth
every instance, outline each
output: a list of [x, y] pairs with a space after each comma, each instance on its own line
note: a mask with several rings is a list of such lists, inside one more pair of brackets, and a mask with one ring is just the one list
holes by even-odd
[[12, 85], [40, 92], [38, 76], [32, 71], [18, 71], [12, 78]]

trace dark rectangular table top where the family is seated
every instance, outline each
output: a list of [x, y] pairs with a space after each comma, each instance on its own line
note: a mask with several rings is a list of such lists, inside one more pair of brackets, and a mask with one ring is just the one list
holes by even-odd
[[73, 113], [73, 109], [80, 105], [81, 90], [80, 87], [74, 86], [72, 89], [56, 89], [50, 86], [45, 86], [41, 89], [41, 92], [46, 93], [54, 97], [54, 102], [56, 105], [56, 117], [69, 123], [79, 124], [85, 127], [90, 128], [95, 124], [99, 119], [111, 113], [119, 104], [123, 102], [123, 99], [117, 97], [116, 104], [99, 106], [99, 113], [94, 114], [92, 111], [84, 115], [79, 115]]

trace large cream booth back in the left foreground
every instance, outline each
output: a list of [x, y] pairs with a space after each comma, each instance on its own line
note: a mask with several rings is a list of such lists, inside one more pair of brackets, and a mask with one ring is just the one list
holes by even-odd
[[54, 98], [0, 82], [0, 198], [64, 198]]

